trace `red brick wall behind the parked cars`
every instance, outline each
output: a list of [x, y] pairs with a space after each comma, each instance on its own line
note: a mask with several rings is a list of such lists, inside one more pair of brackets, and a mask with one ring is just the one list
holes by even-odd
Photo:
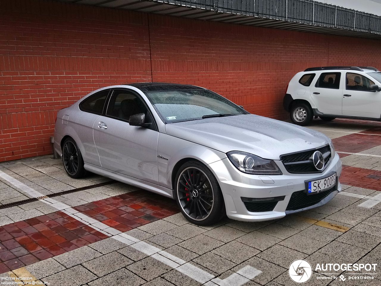
[[381, 67], [379, 41], [51, 0], [0, 5], [0, 161], [50, 154], [56, 112], [107, 85], [195, 84], [281, 119], [296, 72], [327, 64]]

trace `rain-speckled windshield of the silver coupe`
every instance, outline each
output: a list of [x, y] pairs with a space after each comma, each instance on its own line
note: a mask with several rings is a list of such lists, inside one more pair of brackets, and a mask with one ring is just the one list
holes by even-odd
[[146, 92], [146, 95], [166, 123], [197, 120], [212, 114], [221, 116], [248, 114], [239, 106], [210, 90], [150, 91]]

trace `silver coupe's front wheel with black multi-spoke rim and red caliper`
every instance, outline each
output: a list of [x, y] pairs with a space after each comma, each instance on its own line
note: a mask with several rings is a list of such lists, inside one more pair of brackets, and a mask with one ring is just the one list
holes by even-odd
[[221, 188], [213, 173], [199, 161], [188, 161], [180, 167], [173, 198], [184, 217], [195, 225], [210, 225], [226, 215]]

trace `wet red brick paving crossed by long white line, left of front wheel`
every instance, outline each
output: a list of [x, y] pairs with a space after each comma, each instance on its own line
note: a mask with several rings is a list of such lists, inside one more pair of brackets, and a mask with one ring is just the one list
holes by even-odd
[[[143, 190], [73, 208], [122, 232], [179, 212], [172, 199]], [[4, 225], [0, 227], [0, 273], [107, 237], [61, 211]]]

